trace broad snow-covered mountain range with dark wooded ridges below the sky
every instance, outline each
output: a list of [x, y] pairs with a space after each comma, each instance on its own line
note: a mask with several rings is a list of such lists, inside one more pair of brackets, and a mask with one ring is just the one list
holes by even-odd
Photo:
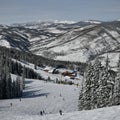
[[46, 21], [0, 25], [0, 45], [44, 57], [87, 62], [120, 51], [120, 21]]

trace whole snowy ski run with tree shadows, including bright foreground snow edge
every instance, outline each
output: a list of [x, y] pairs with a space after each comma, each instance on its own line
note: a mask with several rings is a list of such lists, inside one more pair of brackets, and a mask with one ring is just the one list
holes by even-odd
[[78, 111], [78, 96], [79, 88], [74, 85], [27, 79], [21, 101], [0, 100], [0, 120], [120, 120], [120, 106]]

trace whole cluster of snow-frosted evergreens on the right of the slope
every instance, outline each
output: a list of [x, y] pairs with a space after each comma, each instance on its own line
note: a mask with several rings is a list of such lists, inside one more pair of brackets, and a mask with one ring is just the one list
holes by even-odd
[[99, 59], [89, 63], [80, 91], [79, 110], [120, 105], [120, 57], [117, 72], [110, 69], [108, 57], [105, 63], [103, 66]]

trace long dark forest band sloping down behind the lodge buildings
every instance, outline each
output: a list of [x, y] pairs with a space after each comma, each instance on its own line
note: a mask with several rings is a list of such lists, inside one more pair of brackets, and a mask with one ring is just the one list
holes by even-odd
[[62, 67], [64, 66], [65, 68], [68, 69], [74, 69], [74, 66], [76, 65], [81, 75], [83, 75], [85, 68], [87, 66], [86, 63], [48, 59], [42, 56], [32, 54], [31, 52], [23, 52], [12, 48], [9, 49], [5, 47], [0, 47], [0, 53], [11, 56], [11, 58], [14, 58], [19, 61], [22, 60], [22, 62], [27, 61], [33, 63], [40, 67], [45, 67], [46, 65], [48, 65], [55, 68], [57, 68], [58, 66], [62, 66]]

